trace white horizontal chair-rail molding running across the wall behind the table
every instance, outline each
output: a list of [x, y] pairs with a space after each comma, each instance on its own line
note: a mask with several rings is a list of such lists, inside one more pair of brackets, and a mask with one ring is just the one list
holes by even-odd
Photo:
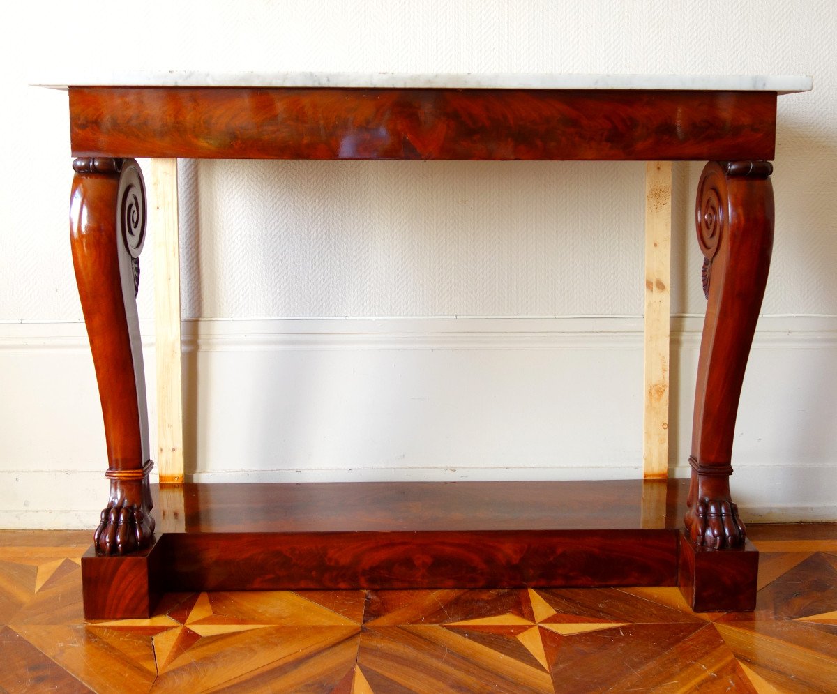
[[[672, 342], [699, 343], [703, 316], [674, 316]], [[142, 346], [154, 324], [141, 321]], [[183, 351], [262, 349], [641, 349], [641, 316], [430, 316], [183, 321]], [[837, 316], [762, 316], [753, 348], [837, 346]], [[0, 350], [89, 349], [81, 321], [0, 321]]]

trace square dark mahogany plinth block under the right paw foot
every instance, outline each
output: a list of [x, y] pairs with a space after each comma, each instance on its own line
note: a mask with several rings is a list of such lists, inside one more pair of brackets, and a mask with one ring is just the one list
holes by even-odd
[[680, 531], [678, 583], [696, 612], [749, 612], [756, 607], [758, 550], [749, 540], [740, 549], [707, 549]]

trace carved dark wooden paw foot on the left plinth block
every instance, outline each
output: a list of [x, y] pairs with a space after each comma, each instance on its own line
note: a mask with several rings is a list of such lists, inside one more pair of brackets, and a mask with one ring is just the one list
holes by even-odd
[[93, 536], [97, 554], [127, 554], [151, 545], [154, 517], [147, 481], [116, 482]]

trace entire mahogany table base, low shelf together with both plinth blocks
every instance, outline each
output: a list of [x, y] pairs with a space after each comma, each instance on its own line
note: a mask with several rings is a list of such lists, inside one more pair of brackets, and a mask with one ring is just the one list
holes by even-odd
[[682, 536], [686, 480], [174, 491], [182, 493], [184, 532], [158, 533], [150, 549], [122, 557], [85, 553], [86, 618], [147, 617], [164, 592], [203, 590], [679, 584], [697, 611], [755, 604], [751, 543], [715, 551]]

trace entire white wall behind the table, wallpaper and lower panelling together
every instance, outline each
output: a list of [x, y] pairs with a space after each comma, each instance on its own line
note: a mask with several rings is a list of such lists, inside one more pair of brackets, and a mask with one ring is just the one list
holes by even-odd
[[[69, 256], [67, 99], [26, 86], [56, 67], [104, 65], [814, 75], [813, 92], [779, 103], [777, 239], [733, 481], [751, 519], [837, 517], [834, 3], [11, 12], [0, 44], [0, 527], [90, 527], [105, 501]], [[678, 476], [705, 306], [691, 222], [700, 168], [675, 165]], [[641, 164], [186, 162], [181, 177], [193, 480], [640, 476]], [[152, 283], [146, 251], [153, 405]]]

